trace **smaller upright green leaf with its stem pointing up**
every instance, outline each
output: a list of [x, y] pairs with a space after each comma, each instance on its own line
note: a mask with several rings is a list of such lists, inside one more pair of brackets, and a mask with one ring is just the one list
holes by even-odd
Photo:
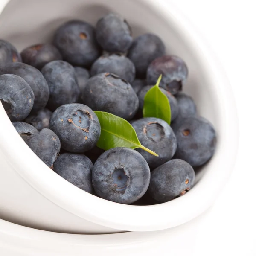
[[162, 75], [157, 84], [145, 95], [143, 105], [143, 117], [157, 117], [171, 124], [171, 107], [167, 96], [159, 88]]

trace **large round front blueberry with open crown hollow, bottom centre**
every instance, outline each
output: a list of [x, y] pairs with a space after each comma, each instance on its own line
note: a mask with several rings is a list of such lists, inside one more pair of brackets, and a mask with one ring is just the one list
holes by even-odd
[[120, 204], [131, 204], [147, 191], [150, 169], [137, 151], [111, 148], [94, 164], [92, 180], [99, 197]]

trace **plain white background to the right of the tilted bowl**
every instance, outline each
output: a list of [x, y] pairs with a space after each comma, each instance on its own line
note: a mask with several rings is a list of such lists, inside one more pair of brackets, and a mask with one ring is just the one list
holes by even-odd
[[175, 244], [174, 248], [185, 252], [186, 244], [192, 244], [189, 254], [198, 256], [256, 255], [255, 1], [172, 2], [204, 34], [221, 59], [236, 98], [240, 130], [239, 154], [229, 183], [212, 209], [187, 230], [192, 242], [186, 236], [178, 245], [183, 244], [183, 248], [179, 250]]

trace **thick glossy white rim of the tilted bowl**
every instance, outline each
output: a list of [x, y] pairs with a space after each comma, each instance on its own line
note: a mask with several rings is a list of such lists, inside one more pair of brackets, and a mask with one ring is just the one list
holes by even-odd
[[[209, 76], [208, 80], [218, 92], [215, 98], [221, 133], [218, 134], [214, 160], [207, 163], [208, 170], [196, 186], [180, 198], [152, 206], [116, 204], [84, 193], [81, 189], [61, 179], [35, 154], [32, 154], [31, 149], [17, 134], [1, 104], [0, 116], [4, 125], [0, 126], [0, 149], [17, 175], [42, 196], [67, 212], [116, 230], [155, 231], [175, 227], [195, 218], [208, 209], [215, 200], [227, 182], [235, 163], [238, 149], [238, 119], [229, 81], [202, 35], [195, 30], [195, 27], [189, 20], [186, 20], [173, 3], [170, 8], [170, 3], [167, 6], [165, 2], [140, 1], [160, 13], [167, 23], [175, 24], [178, 30], [183, 32], [183, 40], [186, 40], [190, 49], [197, 53], [198, 60], [203, 64], [204, 71]], [[81, 204], [83, 201], [86, 204]], [[161, 216], [161, 218], [155, 218], [155, 216]]]

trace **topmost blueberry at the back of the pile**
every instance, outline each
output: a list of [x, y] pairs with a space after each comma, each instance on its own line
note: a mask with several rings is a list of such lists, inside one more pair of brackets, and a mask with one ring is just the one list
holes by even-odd
[[132, 44], [131, 27], [118, 14], [109, 13], [98, 21], [96, 38], [107, 52], [127, 52]]

